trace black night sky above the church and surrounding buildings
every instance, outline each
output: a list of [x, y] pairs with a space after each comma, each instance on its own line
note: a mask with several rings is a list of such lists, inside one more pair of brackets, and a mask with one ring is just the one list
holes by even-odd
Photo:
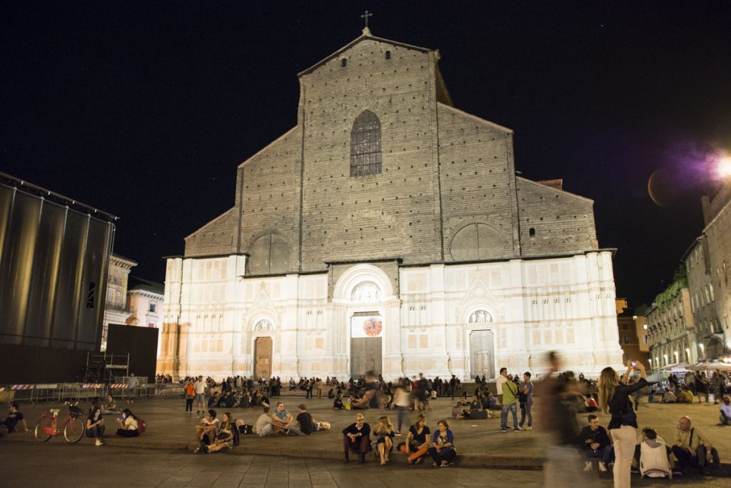
[[366, 9], [374, 35], [441, 51], [523, 176], [595, 200], [618, 296], [652, 301], [702, 230], [705, 154], [731, 150], [726, 1], [3, 1], [0, 170], [121, 217], [115, 252], [162, 281]]

